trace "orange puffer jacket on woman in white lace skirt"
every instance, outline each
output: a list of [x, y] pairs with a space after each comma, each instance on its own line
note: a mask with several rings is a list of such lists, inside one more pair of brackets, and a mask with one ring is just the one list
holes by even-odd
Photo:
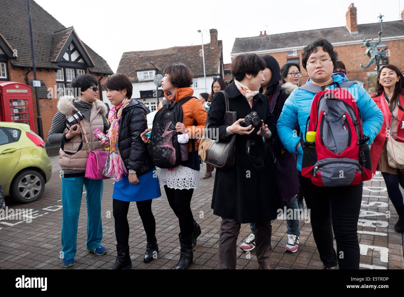
[[[193, 96], [194, 89], [179, 88], [175, 91], [175, 102], [187, 97]], [[168, 93], [164, 92], [164, 97], [167, 98]], [[158, 105], [158, 109], [162, 107], [162, 102]], [[202, 103], [195, 97], [189, 99], [187, 102], [181, 105], [183, 111], [183, 124], [187, 127], [189, 138], [195, 138], [195, 151], [198, 151], [200, 138], [202, 137], [203, 129], [205, 128], [206, 116], [208, 112], [202, 106]], [[198, 123], [198, 126], [193, 126], [194, 122]], [[188, 152], [192, 152], [192, 142], [189, 141]]]

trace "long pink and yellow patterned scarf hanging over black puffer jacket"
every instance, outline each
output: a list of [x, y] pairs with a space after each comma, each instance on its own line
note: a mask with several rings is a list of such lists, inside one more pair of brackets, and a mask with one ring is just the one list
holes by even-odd
[[115, 181], [120, 181], [122, 179], [122, 175], [128, 173], [118, 150], [118, 128], [122, 110], [129, 103], [130, 99], [123, 99], [121, 103], [112, 107], [108, 114], [108, 120], [111, 123], [111, 127], [109, 128], [108, 132], [109, 154], [107, 162], [105, 163], [103, 175], [105, 175], [106, 177], [113, 177]]

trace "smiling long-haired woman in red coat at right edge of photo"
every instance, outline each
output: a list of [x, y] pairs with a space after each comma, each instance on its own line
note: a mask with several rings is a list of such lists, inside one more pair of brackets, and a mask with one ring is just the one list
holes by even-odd
[[[403, 169], [393, 168], [389, 165], [387, 154], [387, 124], [389, 131], [398, 142], [404, 142], [404, 76], [395, 65], [384, 65], [379, 70], [373, 100], [383, 112], [383, 126], [370, 148], [372, 156], [373, 173], [381, 171], [387, 187], [387, 193], [398, 214], [398, 221], [394, 230], [404, 232], [404, 202], [400, 185], [404, 189]], [[383, 106], [384, 105], [384, 106]], [[400, 137], [396, 137], [396, 136]], [[403, 152], [400, 152], [401, 154]]]

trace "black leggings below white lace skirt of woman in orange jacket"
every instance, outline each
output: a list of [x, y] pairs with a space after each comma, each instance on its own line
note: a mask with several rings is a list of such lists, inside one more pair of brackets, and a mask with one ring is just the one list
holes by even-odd
[[173, 209], [178, 218], [179, 230], [182, 238], [188, 238], [192, 235], [194, 228], [194, 216], [191, 211], [191, 198], [194, 189], [173, 189], [164, 185], [168, 204]]

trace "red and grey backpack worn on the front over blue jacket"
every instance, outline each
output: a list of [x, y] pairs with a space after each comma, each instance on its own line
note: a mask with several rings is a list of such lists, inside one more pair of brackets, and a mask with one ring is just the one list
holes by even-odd
[[[338, 187], [358, 185], [372, 178], [369, 146], [362, 130], [355, 98], [347, 88], [356, 82], [333, 82], [336, 87], [318, 92], [307, 118], [301, 174], [314, 185]], [[314, 91], [316, 86], [300, 88]], [[317, 89], [318, 91], [318, 89]], [[308, 142], [307, 131], [315, 131], [314, 142]], [[301, 137], [303, 142], [303, 137]]]

